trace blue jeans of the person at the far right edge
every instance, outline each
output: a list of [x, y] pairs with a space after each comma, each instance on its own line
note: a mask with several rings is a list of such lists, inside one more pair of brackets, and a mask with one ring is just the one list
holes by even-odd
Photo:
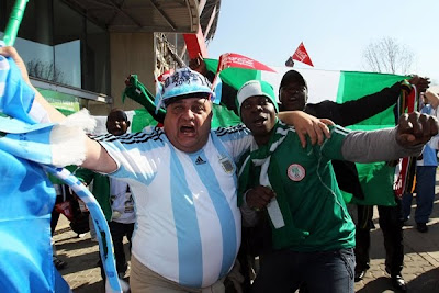
[[[432, 212], [436, 185], [436, 166], [416, 167], [416, 223], [428, 223]], [[413, 194], [403, 195], [403, 213], [407, 219], [410, 215]]]

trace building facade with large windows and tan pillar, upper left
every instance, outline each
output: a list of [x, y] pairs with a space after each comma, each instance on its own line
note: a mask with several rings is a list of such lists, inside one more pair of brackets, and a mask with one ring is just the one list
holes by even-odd
[[[14, 3], [0, 1], [0, 37]], [[181, 34], [199, 31], [204, 7], [217, 16], [219, 1], [30, 0], [14, 46], [31, 82], [65, 113], [138, 109], [128, 99], [122, 104], [126, 77], [136, 74], [154, 92], [154, 74], [184, 65]]]

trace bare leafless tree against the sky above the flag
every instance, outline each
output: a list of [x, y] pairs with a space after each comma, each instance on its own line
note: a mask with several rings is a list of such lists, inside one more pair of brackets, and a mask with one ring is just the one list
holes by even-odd
[[394, 38], [384, 37], [370, 43], [365, 47], [363, 59], [374, 72], [407, 75], [412, 67], [414, 54]]

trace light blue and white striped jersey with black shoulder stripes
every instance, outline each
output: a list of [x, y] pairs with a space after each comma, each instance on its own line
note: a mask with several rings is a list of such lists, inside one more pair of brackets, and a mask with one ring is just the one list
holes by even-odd
[[95, 137], [116, 161], [111, 177], [130, 183], [137, 224], [132, 253], [179, 284], [204, 288], [233, 267], [240, 245], [235, 160], [251, 137], [243, 127], [211, 132], [193, 154], [161, 128]]

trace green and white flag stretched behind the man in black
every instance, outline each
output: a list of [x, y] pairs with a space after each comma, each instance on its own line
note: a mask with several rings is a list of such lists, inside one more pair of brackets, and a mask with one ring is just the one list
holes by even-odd
[[[261, 79], [269, 81], [274, 91], [279, 92], [279, 84], [282, 76], [291, 68], [275, 68], [277, 74], [261, 72]], [[318, 103], [323, 100], [330, 100], [338, 103], [357, 100], [367, 94], [381, 91], [395, 82], [403, 80], [404, 76], [358, 72], [358, 71], [333, 71], [316, 69], [294, 69], [302, 74], [308, 86], [308, 102]], [[395, 126], [393, 106], [367, 119], [358, 124], [348, 126], [350, 129], [373, 131]], [[365, 199], [360, 201], [352, 198], [358, 204], [394, 205], [393, 182], [395, 167], [386, 162], [357, 164], [357, 169]], [[345, 196], [348, 200], [351, 196]]]

